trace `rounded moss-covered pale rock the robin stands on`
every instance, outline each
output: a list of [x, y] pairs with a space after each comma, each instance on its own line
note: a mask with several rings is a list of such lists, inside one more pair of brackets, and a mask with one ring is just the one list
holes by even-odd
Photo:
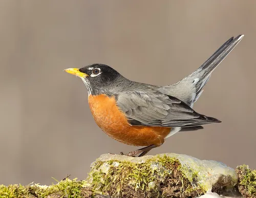
[[232, 190], [236, 171], [223, 163], [166, 153], [140, 158], [102, 155], [88, 181], [95, 193], [114, 197], [195, 197]]

